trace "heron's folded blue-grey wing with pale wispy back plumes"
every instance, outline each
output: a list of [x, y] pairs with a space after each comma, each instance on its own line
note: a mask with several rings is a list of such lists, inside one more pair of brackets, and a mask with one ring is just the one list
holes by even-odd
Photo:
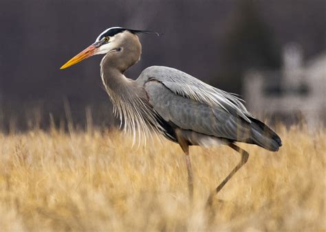
[[167, 67], [147, 68], [137, 81], [165, 121], [232, 141], [250, 138], [249, 113], [237, 97]]

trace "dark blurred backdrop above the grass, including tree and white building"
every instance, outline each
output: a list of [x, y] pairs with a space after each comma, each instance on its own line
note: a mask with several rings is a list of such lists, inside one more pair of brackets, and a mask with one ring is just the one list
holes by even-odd
[[240, 94], [259, 117], [326, 118], [325, 0], [0, 0], [0, 130], [113, 126], [101, 56], [59, 70], [108, 27], [140, 35], [151, 65]]

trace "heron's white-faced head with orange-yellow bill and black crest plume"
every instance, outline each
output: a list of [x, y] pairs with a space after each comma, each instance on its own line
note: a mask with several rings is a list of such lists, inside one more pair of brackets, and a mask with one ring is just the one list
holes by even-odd
[[80, 51], [79, 54], [66, 62], [65, 65], [63, 65], [60, 69], [66, 69], [67, 67], [75, 65], [76, 63], [85, 60], [90, 56], [120, 52], [127, 40], [126, 38], [128, 38], [127, 34], [135, 35], [137, 33], [155, 34], [159, 36], [157, 32], [131, 30], [123, 27], [110, 27], [109, 29], [102, 32], [92, 45], [83, 51]]

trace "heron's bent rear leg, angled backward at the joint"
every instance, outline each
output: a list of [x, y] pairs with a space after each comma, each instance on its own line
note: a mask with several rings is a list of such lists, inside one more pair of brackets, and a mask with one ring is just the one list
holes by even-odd
[[222, 181], [219, 184], [219, 186], [216, 187], [215, 191], [210, 194], [210, 196], [208, 197], [208, 200], [207, 200], [208, 205], [212, 205], [213, 198], [214, 198], [215, 194], [217, 194], [219, 191], [221, 191], [221, 189], [224, 187], [224, 185], [226, 185], [226, 183], [230, 180], [230, 178], [232, 178], [232, 176], [248, 161], [249, 153], [246, 152], [246, 150], [239, 148], [234, 143], [230, 143], [228, 146], [230, 146], [230, 148], [232, 148], [233, 150], [236, 150], [237, 152], [239, 152], [241, 154], [241, 161], [238, 163], [237, 166], [235, 166], [235, 168], [230, 172], [230, 174], [228, 174], [228, 176], [226, 176], [224, 181]]

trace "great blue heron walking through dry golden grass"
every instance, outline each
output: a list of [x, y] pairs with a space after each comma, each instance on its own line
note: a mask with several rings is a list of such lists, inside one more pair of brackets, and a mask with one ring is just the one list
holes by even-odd
[[235, 142], [279, 150], [282, 146], [280, 137], [252, 116], [239, 97], [232, 93], [170, 67], [148, 67], [136, 80], [126, 78], [124, 72], [140, 60], [142, 46], [138, 33], [152, 32], [111, 27], [61, 69], [90, 56], [105, 54], [100, 62], [100, 75], [111, 97], [114, 113], [123, 121], [124, 129], [133, 132], [134, 138], [138, 136], [144, 140], [151, 132], [156, 132], [180, 144], [186, 154], [191, 198], [193, 172], [188, 146], [225, 144], [241, 154], [241, 161], [210, 194], [209, 201], [248, 160], [248, 152]]

